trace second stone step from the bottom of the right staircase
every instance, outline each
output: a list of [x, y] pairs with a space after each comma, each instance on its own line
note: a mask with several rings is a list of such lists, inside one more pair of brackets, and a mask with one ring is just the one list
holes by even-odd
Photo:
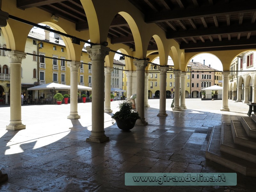
[[222, 124], [220, 151], [256, 163], [256, 150], [235, 144], [230, 124]]

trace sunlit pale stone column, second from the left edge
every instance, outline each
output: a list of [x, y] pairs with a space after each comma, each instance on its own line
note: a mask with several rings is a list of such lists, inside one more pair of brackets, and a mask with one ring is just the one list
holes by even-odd
[[80, 115], [77, 112], [77, 79], [81, 62], [68, 61], [67, 66], [70, 68], [70, 114], [68, 119], [80, 119]]

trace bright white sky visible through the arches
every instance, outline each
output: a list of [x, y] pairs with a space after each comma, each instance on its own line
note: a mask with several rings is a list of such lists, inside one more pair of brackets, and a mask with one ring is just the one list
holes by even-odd
[[[45, 26], [44, 24], [42, 24], [43, 26]], [[44, 29], [41, 29], [41, 28], [36, 28], [36, 27], [33, 27], [31, 29], [32, 31], [35, 31], [37, 33], [44, 33]], [[50, 32], [50, 36], [54, 36], [54, 33]], [[115, 54], [115, 57], [114, 59], [115, 60], [119, 60], [120, 56], [122, 55], [118, 55], [118, 54]], [[217, 69], [219, 71], [222, 71], [223, 70], [223, 67], [222, 67], [222, 64], [220, 62], [220, 60], [212, 55], [212, 54], [209, 54], [209, 53], [201, 53], [199, 55], [196, 55], [195, 57], [192, 58], [194, 62], [200, 62], [202, 64], [205, 63], [205, 65], [211, 65], [211, 68], [214, 68], [214, 69]], [[190, 61], [192, 61], [192, 59]], [[204, 61], [205, 60], [205, 61]]]

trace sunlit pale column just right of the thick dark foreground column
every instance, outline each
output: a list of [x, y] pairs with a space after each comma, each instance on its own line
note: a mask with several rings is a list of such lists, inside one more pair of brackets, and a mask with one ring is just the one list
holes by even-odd
[[111, 87], [111, 72], [113, 68], [107, 67], [105, 71], [105, 113], [112, 113], [113, 111], [110, 108], [110, 87]]

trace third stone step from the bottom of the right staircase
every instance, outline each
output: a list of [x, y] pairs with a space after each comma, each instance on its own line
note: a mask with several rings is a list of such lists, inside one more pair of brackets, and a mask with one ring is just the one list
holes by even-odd
[[248, 148], [256, 149], [256, 139], [249, 137], [244, 130], [243, 124], [238, 120], [231, 120], [234, 143]]

